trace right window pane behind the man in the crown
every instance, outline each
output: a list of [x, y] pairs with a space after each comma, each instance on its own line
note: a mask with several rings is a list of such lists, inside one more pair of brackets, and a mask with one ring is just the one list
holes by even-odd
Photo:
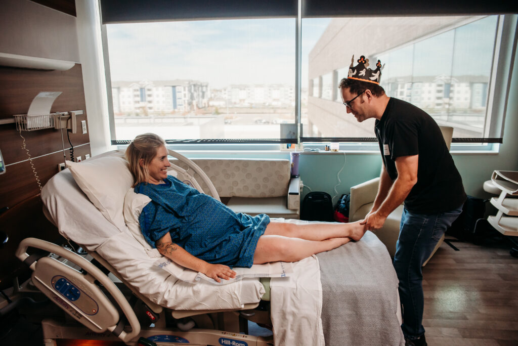
[[[385, 64], [381, 86], [387, 95], [427, 111], [441, 125], [454, 127], [454, 137], [483, 137], [498, 16], [380, 17], [303, 19], [303, 85], [325, 81], [338, 71], [347, 77], [354, 54]], [[325, 27], [318, 24], [325, 23]], [[315, 33], [320, 34], [315, 39]], [[304, 59], [307, 59], [307, 66]], [[335, 94], [336, 95], [336, 94]], [[335, 96], [333, 95], [333, 96]], [[357, 123], [341, 105], [309, 95], [302, 107], [305, 136], [373, 137], [369, 119]]]

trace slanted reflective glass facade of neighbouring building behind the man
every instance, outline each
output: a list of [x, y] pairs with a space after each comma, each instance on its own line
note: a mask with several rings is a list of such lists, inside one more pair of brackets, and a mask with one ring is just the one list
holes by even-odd
[[[433, 103], [415, 92], [401, 98], [428, 112], [439, 125], [452, 126], [453, 137], [482, 138], [497, 24], [498, 16], [475, 19], [377, 57], [392, 65], [405, 55], [404, 61], [412, 61], [412, 90], [416, 84], [427, 83], [426, 88], [436, 97]], [[408, 71], [389, 73], [381, 81], [385, 88], [401, 83]], [[453, 97], [452, 90], [467, 97]]]

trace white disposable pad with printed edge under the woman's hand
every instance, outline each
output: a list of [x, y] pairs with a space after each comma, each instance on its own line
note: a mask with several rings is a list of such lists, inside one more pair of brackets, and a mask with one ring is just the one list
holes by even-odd
[[154, 264], [182, 281], [197, 283], [200, 280], [205, 280], [214, 285], [226, 285], [243, 278], [284, 278], [289, 277], [293, 273], [292, 264], [288, 262], [254, 264], [250, 268], [234, 267], [232, 268], [236, 272], [236, 277], [234, 279], [221, 280], [221, 282], [217, 282], [206, 276], [204, 273], [184, 268], [171, 261], [169, 258], [160, 258], [155, 261]]

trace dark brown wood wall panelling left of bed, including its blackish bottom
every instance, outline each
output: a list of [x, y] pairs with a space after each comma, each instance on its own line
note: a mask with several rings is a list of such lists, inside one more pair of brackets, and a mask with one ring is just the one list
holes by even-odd
[[[44, 71], [13, 67], [0, 67], [0, 119], [13, 119], [15, 114], [28, 111], [33, 98], [41, 91], [62, 91], [52, 105], [51, 112], [83, 110], [77, 118], [77, 133], [70, 134], [74, 156], [90, 154], [89, 134], [81, 133], [81, 120], [86, 120], [83, 78], [81, 65], [67, 71]], [[88, 128], [88, 123], [87, 123]], [[69, 143], [63, 131], [65, 153], [69, 159]], [[61, 130], [53, 128], [22, 131], [26, 148], [33, 157], [33, 164], [41, 186], [54, 176], [57, 164], [64, 161]], [[0, 286], [12, 284], [12, 278], [25, 279], [28, 272], [15, 257], [19, 242], [27, 237], [36, 237], [62, 244], [57, 229], [42, 213], [40, 188], [27, 153], [22, 150], [23, 139], [13, 123], [0, 125], [0, 150], [4, 156], [6, 172], [0, 175], [0, 228], [7, 233], [9, 241], [0, 252]]]

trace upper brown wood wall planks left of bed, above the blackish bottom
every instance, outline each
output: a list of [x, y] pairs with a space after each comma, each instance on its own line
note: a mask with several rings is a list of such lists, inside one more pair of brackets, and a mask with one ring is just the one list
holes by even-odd
[[[62, 91], [52, 105], [51, 112], [86, 109], [81, 65], [67, 71], [43, 71], [0, 67], [0, 119], [12, 119], [14, 114], [24, 114], [40, 91]], [[77, 133], [70, 133], [75, 156], [90, 154], [89, 134], [81, 133], [81, 120], [77, 117]], [[88, 128], [88, 123], [87, 123]], [[22, 131], [25, 146], [34, 158], [33, 163], [45, 184], [57, 173], [57, 164], [63, 162], [61, 130], [53, 128]], [[70, 147], [63, 130], [66, 156]], [[12, 207], [20, 201], [39, 193], [27, 153], [21, 149], [23, 139], [15, 124], [0, 125], [0, 150], [4, 156], [6, 173], [0, 176], [0, 208]], [[81, 146], [82, 145], [82, 146]], [[78, 147], [79, 146], [79, 147]]]

